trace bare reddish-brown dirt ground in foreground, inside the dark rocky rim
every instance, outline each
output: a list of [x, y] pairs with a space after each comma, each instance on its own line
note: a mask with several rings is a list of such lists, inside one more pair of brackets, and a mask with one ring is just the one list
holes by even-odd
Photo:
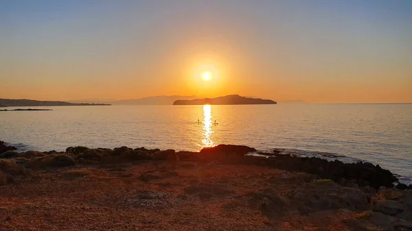
[[259, 166], [150, 160], [34, 171], [0, 186], [0, 230], [357, 230], [347, 225], [356, 203], [331, 206], [307, 193], [333, 188], [334, 198], [349, 188], [316, 179]]

